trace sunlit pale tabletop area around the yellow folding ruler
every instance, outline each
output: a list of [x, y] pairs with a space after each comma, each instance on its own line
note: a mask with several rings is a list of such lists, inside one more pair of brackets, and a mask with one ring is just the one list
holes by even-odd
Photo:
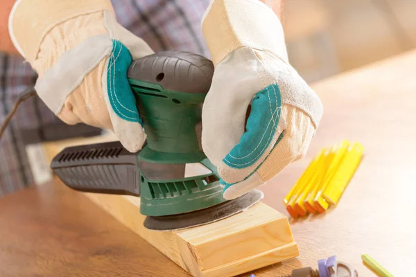
[[337, 255], [359, 276], [374, 276], [361, 262], [368, 253], [394, 276], [416, 275], [416, 51], [312, 87], [324, 105], [318, 132], [304, 159], [262, 187], [264, 202], [283, 212], [282, 198], [321, 148], [349, 139], [363, 144], [365, 157], [338, 206], [291, 221], [297, 262], [316, 267]]

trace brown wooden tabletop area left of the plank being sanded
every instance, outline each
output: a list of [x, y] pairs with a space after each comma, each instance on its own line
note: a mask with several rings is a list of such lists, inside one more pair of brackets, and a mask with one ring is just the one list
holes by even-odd
[[51, 182], [0, 201], [0, 276], [189, 276], [87, 197]]

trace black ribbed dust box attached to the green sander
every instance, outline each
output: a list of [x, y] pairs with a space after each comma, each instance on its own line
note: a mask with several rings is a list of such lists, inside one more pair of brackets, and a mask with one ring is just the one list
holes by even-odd
[[140, 195], [137, 155], [117, 141], [65, 148], [53, 158], [51, 169], [74, 190]]

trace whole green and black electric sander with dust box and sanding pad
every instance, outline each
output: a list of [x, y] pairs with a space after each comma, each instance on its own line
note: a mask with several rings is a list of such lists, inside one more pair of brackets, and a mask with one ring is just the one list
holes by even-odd
[[[263, 193], [225, 200], [202, 151], [202, 103], [213, 74], [210, 60], [184, 51], [134, 60], [128, 80], [147, 134], [144, 148], [130, 153], [119, 142], [66, 148], [51, 169], [74, 190], [140, 196], [144, 226], [152, 230], [184, 229], [244, 211]], [[199, 175], [189, 176], [192, 166], [193, 172], [199, 166]]]

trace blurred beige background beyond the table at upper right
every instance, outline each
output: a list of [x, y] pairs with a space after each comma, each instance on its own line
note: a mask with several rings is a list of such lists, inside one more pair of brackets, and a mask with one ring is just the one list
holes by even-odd
[[286, 0], [291, 64], [306, 82], [416, 46], [415, 0]]

